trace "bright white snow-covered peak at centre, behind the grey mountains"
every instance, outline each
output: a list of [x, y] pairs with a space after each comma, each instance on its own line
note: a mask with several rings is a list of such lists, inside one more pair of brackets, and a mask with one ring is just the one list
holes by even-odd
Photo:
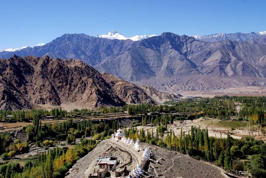
[[96, 35], [95, 37], [96, 38], [107, 38], [107, 39], [131, 39], [133, 41], [139, 41], [139, 40], [142, 40], [142, 39], [147, 39], [149, 37], [152, 37], [152, 36], [157, 36], [155, 34], [152, 34], [152, 35], [136, 35], [136, 36], [133, 36], [133, 37], [126, 37], [120, 33], [118, 33], [117, 31], [115, 30], [112, 30], [110, 32], [108, 32], [107, 35]]

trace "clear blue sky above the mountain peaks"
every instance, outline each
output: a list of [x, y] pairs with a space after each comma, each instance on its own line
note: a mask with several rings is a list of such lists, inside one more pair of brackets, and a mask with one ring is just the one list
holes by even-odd
[[266, 1], [0, 0], [0, 48], [48, 43], [66, 33], [116, 30], [131, 37], [266, 31]]

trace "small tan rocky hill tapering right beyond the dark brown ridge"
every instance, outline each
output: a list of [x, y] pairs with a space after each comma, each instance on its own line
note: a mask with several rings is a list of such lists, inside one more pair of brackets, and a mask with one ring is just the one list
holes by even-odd
[[182, 96], [181, 94], [158, 91], [150, 85], [143, 85], [141, 88], [145, 91], [145, 93], [155, 100], [174, 100]]

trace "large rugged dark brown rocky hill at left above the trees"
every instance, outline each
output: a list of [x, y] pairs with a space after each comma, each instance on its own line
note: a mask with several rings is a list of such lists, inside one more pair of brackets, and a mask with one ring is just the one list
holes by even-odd
[[123, 96], [111, 80], [106, 81], [80, 60], [16, 55], [0, 59], [0, 109], [29, 109], [38, 104], [75, 103], [94, 108], [155, 103], [141, 88], [127, 84], [124, 82]]

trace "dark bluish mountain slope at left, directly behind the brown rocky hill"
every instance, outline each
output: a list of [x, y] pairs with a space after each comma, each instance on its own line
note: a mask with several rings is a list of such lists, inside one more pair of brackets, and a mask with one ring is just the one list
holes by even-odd
[[10, 58], [14, 54], [19, 56], [33, 55], [52, 58], [80, 59], [89, 65], [96, 65], [110, 55], [119, 55], [131, 46], [132, 40], [118, 40], [94, 38], [85, 34], [64, 34], [43, 46], [26, 48], [15, 52], [3, 51], [0, 58]]

